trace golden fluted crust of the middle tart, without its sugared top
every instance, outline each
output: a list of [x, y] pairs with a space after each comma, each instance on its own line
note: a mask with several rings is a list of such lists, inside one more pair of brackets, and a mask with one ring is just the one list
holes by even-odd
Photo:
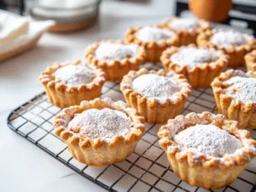
[[157, 99], [148, 99], [131, 88], [132, 81], [137, 78], [137, 76], [142, 76], [148, 73], [165, 76], [165, 72], [163, 70], [148, 71], [146, 69], [130, 71], [126, 76], [124, 76], [120, 84], [120, 89], [125, 96], [126, 103], [132, 108], [137, 109], [138, 114], [144, 116], [148, 123], [164, 123], [168, 119], [181, 114], [183, 106], [191, 91], [190, 85], [183, 75], [177, 75], [174, 72], [170, 72], [166, 75], [172, 76], [178, 84], [181, 85], [181, 90], [174, 93], [177, 98], [176, 100], [166, 99], [166, 102], [159, 102]]

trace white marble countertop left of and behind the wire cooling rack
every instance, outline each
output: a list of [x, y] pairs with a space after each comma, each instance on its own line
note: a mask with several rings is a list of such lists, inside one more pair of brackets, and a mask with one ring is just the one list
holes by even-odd
[[172, 14], [170, 0], [103, 1], [97, 25], [70, 34], [46, 34], [26, 54], [0, 63], [1, 191], [103, 191], [12, 132], [10, 110], [43, 92], [38, 76], [55, 61], [83, 58], [91, 42], [122, 38], [129, 26], [154, 24]]

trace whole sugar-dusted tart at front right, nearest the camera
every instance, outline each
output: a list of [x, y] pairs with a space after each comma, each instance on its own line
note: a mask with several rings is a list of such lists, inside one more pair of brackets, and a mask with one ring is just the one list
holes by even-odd
[[237, 121], [210, 112], [177, 116], [160, 127], [160, 147], [184, 182], [205, 189], [235, 181], [256, 155], [256, 141]]

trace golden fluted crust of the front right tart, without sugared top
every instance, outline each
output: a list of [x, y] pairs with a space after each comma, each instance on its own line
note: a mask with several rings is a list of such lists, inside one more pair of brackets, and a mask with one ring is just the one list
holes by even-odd
[[[182, 130], [197, 124], [213, 124], [241, 140], [243, 147], [232, 155], [217, 158], [196, 155], [192, 151], [180, 150], [173, 137]], [[169, 120], [160, 127], [160, 147], [166, 151], [170, 167], [183, 181], [206, 189], [218, 189], [234, 182], [256, 155], [256, 141], [247, 130], [240, 130], [237, 121], [229, 121], [223, 115], [210, 112], [190, 113]]]

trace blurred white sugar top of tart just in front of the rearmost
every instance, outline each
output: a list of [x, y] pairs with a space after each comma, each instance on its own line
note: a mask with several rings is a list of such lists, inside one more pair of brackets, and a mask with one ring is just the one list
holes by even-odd
[[156, 26], [145, 26], [137, 31], [137, 38], [143, 42], [160, 41], [172, 38], [175, 32], [164, 30]]

